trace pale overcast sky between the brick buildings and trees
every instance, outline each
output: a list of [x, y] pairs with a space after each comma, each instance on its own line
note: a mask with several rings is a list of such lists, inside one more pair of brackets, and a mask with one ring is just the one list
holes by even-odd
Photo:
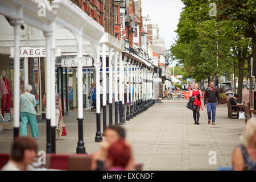
[[142, 16], [149, 15], [158, 22], [159, 37], [164, 38], [166, 49], [170, 49], [176, 38], [177, 24], [183, 3], [180, 0], [141, 0]]

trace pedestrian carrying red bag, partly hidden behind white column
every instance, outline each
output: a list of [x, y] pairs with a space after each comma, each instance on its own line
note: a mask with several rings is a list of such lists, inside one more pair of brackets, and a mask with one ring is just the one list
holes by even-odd
[[[55, 85], [55, 89], [57, 86]], [[43, 98], [43, 105], [46, 105], [46, 94], [44, 94]], [[61, 99], [59, 93], [55, 91], [55, 123], [56, 123], [56, 130], [58, 130], [59, 126], [59, 119], [63, 119], [63, 110], [62, 110], [62, 105], [61, 105]]]

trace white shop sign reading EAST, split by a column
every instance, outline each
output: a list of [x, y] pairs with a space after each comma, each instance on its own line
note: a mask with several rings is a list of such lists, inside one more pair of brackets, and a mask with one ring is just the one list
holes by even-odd
[[[92, 67], [92, 57], [82, 57], [82, 67]], [[61, 59], [61, 67], [77, 67], [76, 57], [65, 57]]]

